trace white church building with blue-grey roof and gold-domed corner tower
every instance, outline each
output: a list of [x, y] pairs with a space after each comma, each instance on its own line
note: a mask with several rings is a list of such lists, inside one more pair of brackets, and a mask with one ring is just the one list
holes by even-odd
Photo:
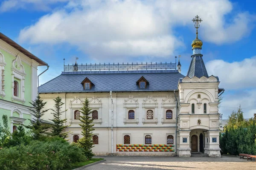
[[[199, 28], [201, 19], [195, 18]], [[92, 109], [96, 155], [220, 157], [219, 79], [209, 76], [201, 54], [203, 42], [192, 42], [186, 76], [177, 63], [64, 65], [58, 77], [39, 87], [53, 108], [62, 98], [70, 142], [82, 138], [79, 114], [84, 99]], [[50, 111], [44, 119], [52, 119]]]

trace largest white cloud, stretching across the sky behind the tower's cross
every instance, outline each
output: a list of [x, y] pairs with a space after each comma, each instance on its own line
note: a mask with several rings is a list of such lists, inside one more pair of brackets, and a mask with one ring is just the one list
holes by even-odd
[[95, 59], [167, 57], [183, 46], [172, 30], [185, 25], [191, 28], [197, 14], [204, 20], [199, 33], [203, 41], [222, 44], [240, 40], [250, 32], [251, 17], [242, 12], [227, 23], [224, 16], [231, 11], [228, 0], [70, 1], [62, 10], [21, 30], [19, 40], [31, 44], [68, 42]]

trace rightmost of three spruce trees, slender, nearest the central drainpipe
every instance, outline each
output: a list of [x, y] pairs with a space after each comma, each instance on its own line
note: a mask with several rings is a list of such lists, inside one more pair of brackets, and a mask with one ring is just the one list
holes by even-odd
[[80, 121], [81, 124], [81, 133], [84, 136], [82, 139], [80, 139], [79, 146], [84, 148], [84, 155], [87, 157], [87, 159], [91, 159], [93, 157], [93, 119], [90, 117], [91, 109], [89, 108], [89, 100], [85, 99], [83, 102], [83, 107], [81, 108], [81, 114]]

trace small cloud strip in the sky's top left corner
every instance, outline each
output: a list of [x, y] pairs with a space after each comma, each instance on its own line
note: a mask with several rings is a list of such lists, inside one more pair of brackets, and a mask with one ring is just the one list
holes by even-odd
[[4, 0], [0, 4], [0, 12], [17, 10], [20, 8], [49, 11], [51, 9], [49, 5], [67, 1], [69, 0]]

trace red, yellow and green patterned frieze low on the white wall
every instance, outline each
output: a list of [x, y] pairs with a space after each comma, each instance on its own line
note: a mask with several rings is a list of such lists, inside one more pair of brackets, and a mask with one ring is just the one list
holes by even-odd
[[172, 147], [174, 147], [174, 145], [166, 145], [166, 144], [152, 144], [152, 145], [116, 144], [116, 151], [117, 152], [174, 152], [175, 150], [172, 149]]

